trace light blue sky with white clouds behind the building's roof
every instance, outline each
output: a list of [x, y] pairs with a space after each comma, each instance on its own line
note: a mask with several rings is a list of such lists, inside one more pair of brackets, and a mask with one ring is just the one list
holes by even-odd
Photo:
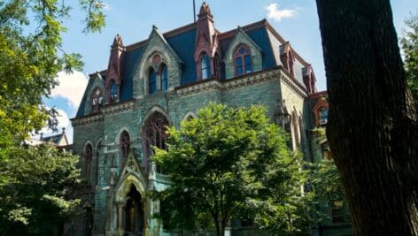
[[[69, 3], [67, 1], [66, 3]], [[44, 103], [60, 110], [61, 126], [66, 126], [70, 141], [73, 131], [68, 118], [74, 118], [84, 88], [87, 75], [106, 69], [110, 45], [116, 34], [122, 36], [125, 45], [147, 39], [152, 25], [160, 32], [182, 27], [193, 22], [192, 0], [104, 0], [106, 27], [100, 34], [82, 34], [84, 15], [78, 1], [71, 1], [72, 17], [64, 24], [63, 48], [66, 52], [81, 53], [85, 63], [82, 72], [59, 73], [60, 85], [52, 90], [51, 98]], [[197, 12], [203, 1], [196, 0]], [[317, 79], [317, 88], [326, 89], [323, 65], [321, 35], [314, 0], [207, 0], [211, 7], [215, 27], [221, 32], [244, 26], [260, 19], [267, 19], [275, 30], [290, 41], [292, 48], [311, 63]], [[418, 14], [418, 1], [391, 0], [394, 24], [400, 37], [405, 29], [404, 19], [410, 13]], [[44, 131], [48, 135], [47, 131]]]

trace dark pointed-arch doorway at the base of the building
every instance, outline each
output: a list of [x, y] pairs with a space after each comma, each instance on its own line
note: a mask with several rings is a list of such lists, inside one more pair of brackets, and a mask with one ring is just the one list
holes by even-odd
[[143, 201], [141, 194], [131, 185], [125, 201], [125, 235], [143, 235]]

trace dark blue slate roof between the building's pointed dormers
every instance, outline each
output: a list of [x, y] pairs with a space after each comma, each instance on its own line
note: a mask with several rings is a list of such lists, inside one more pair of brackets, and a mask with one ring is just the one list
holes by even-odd
[[[272, 43], [270, 42], [267, 30], [270, 32], [274, 29], [268, 24], [266, 19], [260, 20], [258, 22], [252, 23], [250, 25], [242, 27], [245, 34], [247, 34], [253, 42], [255, 42], [261, 51], [262, 57], [262, 70], [267, 70], [278, 65], [278, 62], [275, 61], [274, 50], [272, 49]], [[196, 45], [196, 23], [179, 27], [172, 31], [169, 31], [163, 34], [166, 42], [174, 49], [175, 53], [181, 58], [182, 64], [182, 78], [181, 85], [188, 85], [197, 80], [196, 64], [194, 61], [193, 54], [195, 52]], [[233, 40], [234, 36], [237, 33], [237, 29], [230, 30], [225, 33], [220, 33], [219, 42], [221, 47], [222, 57], [225, 57], [225, 52], [228, 50], [229, 44]], [[276, 39], [283, 43], [283, 38], [273, 32]], [[135, 65], [139, 62], [142, 57], [143, 49], [146, 45], [147, 40], [142, 42], [136, 42], [134, 44], [128, 45], [125, 52], [125, 61], [124, 61], [124, 78], [120, 85], [120, 102], [127, 101], [133, 98], [133, 78]], [[298, 57], [298, 55], [297, 55]], [[298, 57], [299, 60], [302, 60], [302, 64], [306, 62]], [[101, 72], [103, 78], [105, 78], [105, 71]], [[225, 65], [221, 65], [221, 80], [225, 79]], [[93, 80], [89, 80], [89, 84], [86, 88], [86, 91], [89, 91]], [[299, 81], [301, 86], [305, 88], [303, 81]], [[86, 103], [86, 94], [81, 100], [79, 110], [77, 111], [76, 118], [84, 116], [85, 103]]]

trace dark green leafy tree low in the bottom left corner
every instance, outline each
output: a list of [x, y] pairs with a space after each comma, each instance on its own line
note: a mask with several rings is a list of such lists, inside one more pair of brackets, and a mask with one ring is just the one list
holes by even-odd
[[79, 205], [78, 157], [57, 148], [12, 148], [0, 160], [0, 233], [48, 235]]

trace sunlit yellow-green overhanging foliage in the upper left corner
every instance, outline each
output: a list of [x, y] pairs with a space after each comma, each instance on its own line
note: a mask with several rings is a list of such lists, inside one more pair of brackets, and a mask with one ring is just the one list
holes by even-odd
[[[85, 31], [104, 26], [103, 4], [81, 0], [87, 11]], [[57, 82], [57, 72], [81, 69], [79, 54], [61, 48], [62, 21], [70, 8], [57, 0], [0, 1], [0, 158], [47, 118], [40, 108]]]

